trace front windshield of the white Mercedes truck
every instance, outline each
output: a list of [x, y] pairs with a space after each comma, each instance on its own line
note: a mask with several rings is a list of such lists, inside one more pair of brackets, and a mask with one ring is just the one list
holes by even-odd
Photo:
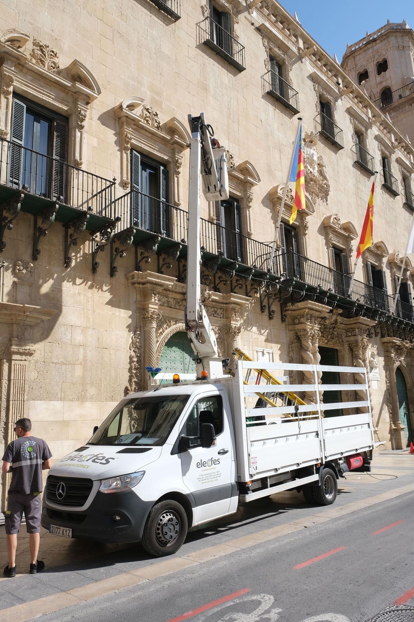
[[151, 395], [121, 402], [88, 445], [163, 445], [188, 395]]

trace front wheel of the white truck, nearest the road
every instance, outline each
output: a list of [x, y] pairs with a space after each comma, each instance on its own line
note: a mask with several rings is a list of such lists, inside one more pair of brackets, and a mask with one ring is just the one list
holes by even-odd
[[173, 499], [156, 503], [145, 522], [141, 544], [150, 555], [173, 555], [186, 539], [188, 529], [184, 508]]

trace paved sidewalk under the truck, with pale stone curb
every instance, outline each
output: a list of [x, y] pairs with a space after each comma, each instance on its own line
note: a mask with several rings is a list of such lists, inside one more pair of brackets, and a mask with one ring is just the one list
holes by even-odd
[[[0, 610], [15, 622], [30, 620], [38, 613], [73, 604], [70, 598], [75, 594], [78, 601], [88, 600], [408, 493], [414, 490], [414, 455], [404, 450], [384, 451], [374, 458], [372, 473], [346, 475], [346, 480], [339, 482], [333, 506], [310, 506], [302, 493], [274, 494], [242, 506], [230, 518], [192, 532], [178, 554], [167, 559], [151, 558], [139, 545], [76, 541], [52, 536], [42, 529], [39, 558], [45, 561], [46, 568], [38, 575], [29, 575], [29, 539], [22, 526], [16, 559], [19, 574], [12, 579], [0, 577]], [[0, 529], [0, 563], [4, 567], [6, 538], [4, 527]], [[43, 606], [39, 599], [48, 605]], [[51, 609], [52, 601], [56, 605]], [[24, 603], [30, 603], [30, 615], [25, 613]]]

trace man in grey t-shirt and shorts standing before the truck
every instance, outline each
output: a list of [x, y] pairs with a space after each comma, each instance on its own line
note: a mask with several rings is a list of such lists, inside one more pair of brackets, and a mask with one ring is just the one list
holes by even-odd
[[40, 544], [40, 516], [42, 514], [42, 470], [52, 466], [52, 453], [42, 439], [32, 436], [30, 419], [18, 419], [14, 426], [17, 439], [12, 440], [3, 456], [1, 470], [12, 471], [6, 506], [6, 544], [9, 564], [5, 577], [16, 577], [17, 533], [24, 513], [30, 545], [30, 574], [43, 570], [45, 564], [37, 560]]

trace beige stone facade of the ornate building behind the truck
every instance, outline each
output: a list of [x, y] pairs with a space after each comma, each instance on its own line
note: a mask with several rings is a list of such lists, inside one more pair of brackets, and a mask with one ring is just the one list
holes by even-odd
[[[304, 119], [307, 207], [297, 218], [298, 250], [331, 269], [335, 248], [348, 253], [349, 266], [354, 261], [371, 188], [370, 175], [353, 163], [355, 128], [364, 132], [376, 168], [385, 151], [394, 169], [411, 175], [414, 151], [274, 0], [217, 3], [231, 13], [235, 41], [245, 47], [242, 72], [200, 42], [206, 9], [194, 1], [182, 4], [177, 21], [148, 0], [125, 0], [122, 7], [0, 1], [0, 7], [2, 161], [11, 139], [12, 98], [24, 97], [68, 119], [66, 157], [76, 169], [70, 179], [88, 173], [113, 183], [115, 177], [110, 198], [119, 200], [90, 210], [78, 203], [83, 211], [66, 218], [58, 197], [30, 207], [30, 188], [21, 197], [19, 188], [0, 206], [0, 443], [12, 439], [18, 417], [29, 415], [56, 459], [82, 445], [124, 394], [146, 388], [145, 366], [156, 366], [168, 338], [185, 330], [186, 239], [170, 231], [171, 243], [154, 235], [137, 243], [139, 225], [122, 228], [110, 211], [132, 187], [130, 149], [168, 170], [169, 203], [185, 215], [187, 114], [204, 111], [229, 151], [230, 194], [240, 205], [245, 244], [271, 243], [297, 125], [294, 113], [263, 86], [269, 55], [276, 58], [286, 83], [299, 93]], [[331, 104], [344, 149], [320, 134], [320, 100]], [[3, 190], [7, 175], [3, 165]], [[289, 190], [284, 223], [292, 198]], [[412, 214], [380, 183], [375, 210], [370, 261], [385, 270], [392, 293], [391, 269], [399, 274]], [[109, 220], [93, 230], [90, 223], [102, 214]], [[214, 205], [202, 202], [202, 216], [216, 231]], [[390, 336], [392, 327], [332, 312], [323, 300], [286, 304], [266, 284], [266, 271], [258, 274], [256, 260], [240, 272], [235, 263], [223, 267], [220, 253], [206, 257], [204, 304], [220, 355], [232, 358], [238, 346], [254, 358], [266, 349], [275, 361], [318, 363], [323, 343], [338, 350], [340, 364], [354, 364], [355, 383], [361, 382], [358, 368], [369, 370], [376, 361], [371, 406], [377, 436], [402, 447], [395, 367], [402, 368], [411, 400], [414, 356], [405, 333]], [[366, 282], [365, 260], [356, 277]], [[411, 281], [410, 271], [405, 279]]]

